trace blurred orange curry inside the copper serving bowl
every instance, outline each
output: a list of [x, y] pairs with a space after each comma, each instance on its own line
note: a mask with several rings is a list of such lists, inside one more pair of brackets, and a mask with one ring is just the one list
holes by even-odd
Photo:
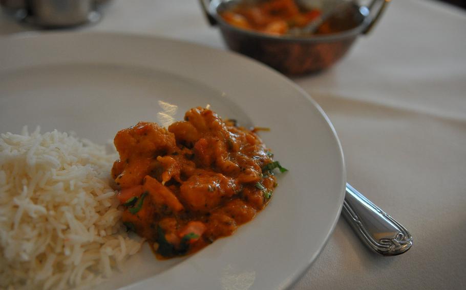
[[321, 14], [318, 9], [305, 10], [294, 0], [271, 0], [255, 5], [240, 4], [221, 12], [232, 26], [267, 34], [284, 35], [291, 28], [302, 28]]

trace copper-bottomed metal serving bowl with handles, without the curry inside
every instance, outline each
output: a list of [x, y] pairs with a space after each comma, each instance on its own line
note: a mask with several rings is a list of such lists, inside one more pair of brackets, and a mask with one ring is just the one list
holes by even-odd
[[[335, 33], [306, 36], [274, 36], [229, 25], [220, 13], [241, 2], [257, 3], [264, 0], [200, 0], [210, 25], [218, 25], [228, 47], [255, 58], [288, 75], [302, 75], [326, 69], [341, 59], [356, 40], [367, 34], [390, 0], [372, 0], [365, 6], [355, 1], [347, 3], [344, 11], [333, 13], [329, 21]], [[319, 5], [322, 14], [344, 0], [301, 0]]]

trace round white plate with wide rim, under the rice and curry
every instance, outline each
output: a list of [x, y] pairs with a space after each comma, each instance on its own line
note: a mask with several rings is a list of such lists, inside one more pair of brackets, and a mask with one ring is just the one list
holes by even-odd
[[185, 258], [148, 247], [102, 289], [283, 289], [324, 247], [340, 215], [345, 165], [323, 111], [291, 81], [247, 58], [191, 43], [121, 34], [0, 40], [0, 132], [23, 125], [103, 143], [139, 120], [181, 119], [211, 105], [261, 133], [289, 169], [268, 207], [231, 237]]

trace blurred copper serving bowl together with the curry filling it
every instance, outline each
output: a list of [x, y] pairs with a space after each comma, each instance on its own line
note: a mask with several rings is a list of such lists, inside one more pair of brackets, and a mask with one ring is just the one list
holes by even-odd
[[[219, 26], [229, 49], [287, 75], [332, 66], [359, 35], [371, 30], [389, 2], [200, 0], [209, 23]], [[307, 13], [316, 16], [297, 25], [297, 19]], [[307, 30], [314, 22], [319, 24]]]

